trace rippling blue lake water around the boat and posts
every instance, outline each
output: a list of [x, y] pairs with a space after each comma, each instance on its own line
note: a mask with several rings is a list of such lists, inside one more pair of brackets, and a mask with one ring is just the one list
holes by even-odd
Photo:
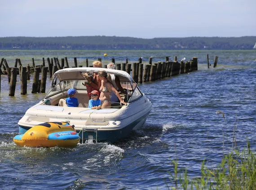
[[243, 149], [248, 140], [256, 152], [256, 51], [0, 51], [9, 67], [16, 58], [26, 66], [32, 65], [32, 58], [41, 64], [43, 57], [67, 57], [71, 67], [74, 57], [85, 65], [86, 58], [89, 64], [97, 58], [103, 64], [111, 58], [134, 63], [140, 57], [148, 63], [151, 56], [153, 62], [164, 61], [165, 56], [198, 57], [198, 71], [139, 84], [153, 109], [141, 130], [115, 144], [18, 147], [13, 137], [18, 135], [19, 119], [45, 94], [31, 94], [30, 80], [27, 95], [20, 95], [18, 81], [15, 97], [9, 97], [8, 79], [2, 75], [0, 189], [165, 190], [174, 186], [168, 173], [173, 173], [171, 160], [178, 159], [179, 169], [197, 177], [203, 160], [208, 168], [216, 167], [223, 154], [231, 152], [234, 127], [236, 145]]

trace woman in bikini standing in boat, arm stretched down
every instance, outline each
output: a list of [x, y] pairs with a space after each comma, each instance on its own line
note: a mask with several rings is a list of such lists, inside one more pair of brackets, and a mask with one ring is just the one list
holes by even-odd
[[101, 86], [99, 91], [101, 92], [100, 94], [100, 100], [102, 102], [102, 108], [106, 107], [111, 107], [111, 101], [110, 101], [110, 93], [113, 91], [115, 95], [118, 97], [119, 101], [121, 104], [126, 104], [120, 94], [116, 91], [114, 88], [111, 77], [109, 74], [106, 73], [106, 71], [99, 71], [98, 72], [98, 77], [101, 80]]

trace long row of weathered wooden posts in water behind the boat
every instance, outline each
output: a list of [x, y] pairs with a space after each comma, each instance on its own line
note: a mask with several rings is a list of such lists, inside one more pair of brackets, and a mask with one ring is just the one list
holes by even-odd
[[[126, 71], [130, 74], [132, 71], [132, 79], [136, 83], [142, 83], [147, 81], [154, 81], [163, 79], [165, 77], [175, 76], [178, 74], [183, 74], [191, 71], [198, 70], [198, 59], [193, 57], [190, 62], [177, 62], [177, 56], [174, 57], [173, 61], [169, 61], [169, 57], [165, 58], [165, 61], [152, 63], [153, 59], [156, 57], [149, 58], [149, 64], [142, 64], [142, 58], [138, 59], [138, 63], [128, 63], [128, 59], [126, 59], [126, 63], [117, 63], [116, 69]], [[160, 57], [157, 57], [160, 58]], [[15, 59], [15, 64], [13, 68], [9, 68], [6, 59], [2, 58], [0, 62], [0, 74], [8, 75], [8, 82], [10, 83], [9, 88], [9, 96], [14, 96], [17, 75], [20, 75], [20, 83], [21, 83], [21, 94], [25, 95], [27, 93], [27, 80], [30, 80], [30, 74], [33, 74], [33, 83], [32, 83], [32, 91], [31, 93], [45, 93], [46, 89], [46, 80], [47, 73], [49, 72], [49, 78], [52, 78], [53, 74], [62, 68], [69, 68], [69, 63], [67, 57], [61, 59], [61, 64], [59, 63], [58, 58], [47, 58], [48, 66], [45, 66], [45, 60], [43, 58], [42, 65], [35, 65], [34, 58], [32, 58], [32, 67], [27, 65], [27, 67], [23, 67], [20, 59]], [[101, 58], [98, 58], [99, 61], [102, 61]], [[115, 59], [111, 59], [112, 63], [115, 63]], [[83, 67], [83, 65], [77, 65], [77, 59], [74, 58], [75, 66], [72, 68]], [[19, 67], [18, 67], [19, 65]], [[3, 67], [3, 71], [2, 71]], [[86, 65], [88, 67], [88, 59], [86, 59]], [[90, 66], [92, 67], [92, 66]], [[106, 65], [104, 66], [106, 68]], [[143, 72], [144, 71], [144, 72]], [[40, 78], [41, 73], [41, 80]], [[0, 75], [0, 87], [1, 87], [1, 75]]]

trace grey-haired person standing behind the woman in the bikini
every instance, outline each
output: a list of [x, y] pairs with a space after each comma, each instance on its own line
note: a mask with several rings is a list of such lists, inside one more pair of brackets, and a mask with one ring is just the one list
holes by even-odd
[[[107, 68], [115, 69], [115, 63], [109, 63], [107, 65]], [[123, 87], [120, 84], [119, 77], [115, 76], [114, 74], [109, 74], [109, 75], [111, 77], [112, 84], [113, 84], [114, 88], [116, 90], [119, 90], [121, 93], [126, 94], [126, 91], [123, 89]], [[115, 93], [113, 91], [110, 93], [110, 101], [118, 101], [118, 98], [117, 98], [117, 96], [115, 95]]]

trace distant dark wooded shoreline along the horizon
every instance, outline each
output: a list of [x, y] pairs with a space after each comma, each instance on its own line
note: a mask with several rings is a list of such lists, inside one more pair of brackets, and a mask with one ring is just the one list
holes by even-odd
[[256, 36], [131, 38], [116, 36], [3, 37], [1, 50], [252, 50]]

